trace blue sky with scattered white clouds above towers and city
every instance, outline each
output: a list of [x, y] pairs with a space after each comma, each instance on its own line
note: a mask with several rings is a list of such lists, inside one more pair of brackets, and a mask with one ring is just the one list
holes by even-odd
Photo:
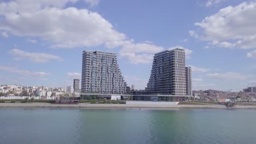
[[66, 87], [84, 50], [117, 53], [146, 87], [154, 53], [185, 49], [193, 90], [256, 85], [256, 1], [0, 1], [0, 85]]

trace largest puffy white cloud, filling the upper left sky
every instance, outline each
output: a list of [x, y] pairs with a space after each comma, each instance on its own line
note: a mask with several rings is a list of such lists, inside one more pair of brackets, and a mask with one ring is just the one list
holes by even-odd
[[0, 3], [0, 30], [8, 34], [37, 37], [51, 47], [119, 46], [126, 40], [100, 14], [87, 9], [64, 8], [76, 1], [22, 1]]

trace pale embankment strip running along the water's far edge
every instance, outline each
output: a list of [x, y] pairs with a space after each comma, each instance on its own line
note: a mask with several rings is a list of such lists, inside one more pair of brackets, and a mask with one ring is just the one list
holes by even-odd
[[90, 109], [256, 109], [252, 105], [236, 105], [228, 108], [224, 105], [137, 105], [137, 104], [50, 104], [50, 103], [0, 103], [4, 107], [24, 108], [90, 108]]

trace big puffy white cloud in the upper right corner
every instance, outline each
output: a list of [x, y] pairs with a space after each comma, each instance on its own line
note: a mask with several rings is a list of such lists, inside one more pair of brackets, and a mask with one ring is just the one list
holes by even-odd
[[[195, 26], [199, 31], [189, 31], [192, 37], [212, 41], [219, 47], [256, 47], [256, 2], [243, 2], [236, 7], [220, 9], [218, 13], [205, 17]], [[214, 43], [218, 41], [218, 43]]]

